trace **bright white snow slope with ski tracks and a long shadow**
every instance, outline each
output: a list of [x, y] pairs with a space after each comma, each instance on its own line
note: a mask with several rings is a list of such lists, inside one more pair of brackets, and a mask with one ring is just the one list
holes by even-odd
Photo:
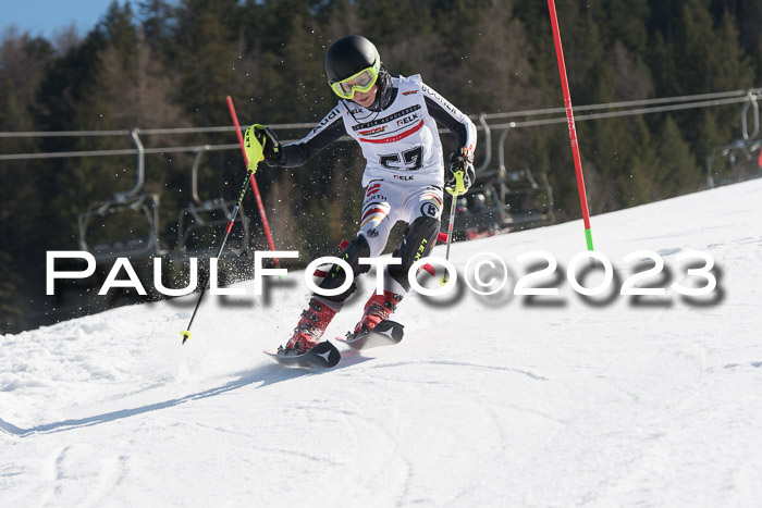
[[[717, 288], [693, 300], [580, 297], [580, 222], [453, 245], [460, 272], [499, 255], [505, 289], [411, 295], [400, 345], [331, 371], [261, 354], [295, 325], [300, 273], [206, 299], [184, 346], [196, 295], [1, 336], [0, 506], [759, 506], [760, 202], [755, 181], [593, 218], [619, 286], [630, 252], [665, 259], [664, 287], [701, 285], [675, 257], [711, 253]], [[561, 295], [514, 296], [538, 249]]]

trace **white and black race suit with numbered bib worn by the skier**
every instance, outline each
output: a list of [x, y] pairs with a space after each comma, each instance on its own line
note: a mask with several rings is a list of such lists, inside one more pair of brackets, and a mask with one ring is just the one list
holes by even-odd
[[438, 124], [468, 153], [477, 143], [474, 122], [419, 75], [393, 77], [391, 91], [393, 98], [381, 111], [341, 100], [306, 137], [283, 147], [284, 165], [297, 166], [345, 134], [359, 144], [367, 161], [359, 233], [372, 257], [383, 250], [395, 222], [442, 214], [444, 161]]

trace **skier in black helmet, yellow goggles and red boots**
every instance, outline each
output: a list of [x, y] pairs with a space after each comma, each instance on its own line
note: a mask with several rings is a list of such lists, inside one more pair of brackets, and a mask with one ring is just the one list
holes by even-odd
[[[270, 128], [253, 125], [247, 138], [260, 143], [268, 165], [288, 168], [304, 164], [346, 134], [360, 145], [367, 160], [360, 227], [341, 255], [355, 276], [370, 269], [358, 260], [379, 256], [397, 221], [408, 224], [394, 255], [402, 264], [385, 269], [383, 295], [373, 292], [362, 318], [347, 335], [362, 334], [394, 312], [410, 288], [409, 268], [433, 247], [440, 231], [443, 186], [454, 194], [456, 173], [463, 175], [466, 189], [474, 182], [476, 126], [425, 85], [419, 75], [391, 76], [376, 47], [365, 37], [351, 35], [336, 40], [325, 53], [325, 75], [340, 100], [306, 137], [281, 145]], [[446, 175], [437, 124], [455, 134], [459, 147], [450, 157]], [[346, 273], [335, 264], [318, 286], [335, 289], [345, 280]], [[356, 288], [353, 282], [341, 295], [314, 295], [279, 354], [300, 355], [315, 347]]]

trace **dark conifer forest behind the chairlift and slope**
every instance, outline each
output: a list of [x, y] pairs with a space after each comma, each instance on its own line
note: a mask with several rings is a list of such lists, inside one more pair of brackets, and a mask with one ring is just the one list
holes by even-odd
[[[556, 7], [575, 106], [762, 84], [762, 0]], [[2, 34], [0, 133], [226, 126], [229, 95], [242, 124], [318, 122], [336, 102], [323, 55], [347, 34], [365, 35], [392, 74], [421, 74], [468, 114], [563, 106], [544, 1], [147, 0], [112, 3], [84, 36], [73, 28], [52, 40]], [[739, 111], [734, 104], [578, 123], [591, 213], [705, 187], [706, 157], [739, 137]], [[226, 132], [157, 134], [143, 143], [236, 140]], [[0, 153], [116, 148], [132, 148], [130, 137], [0, 137]], [[146, 158], [144, 190], [160, 196], [168, 252], [176, 248], [179, 211], [190, 201], [193, 160], [194, 153]], [[556, 218], [580, 216], [565, 124], [512, 134], [507, 164], [546, 173]], [[357, 228], [362, 168], [359, 149], [337, 143], [302, 169], [260, 171], [276, 247], [299, 250], [303, 260], [337, 253], [339, 241]], [[46, 297], [45, 253], [78, 249], [77, 216], [130, 188], [134, 172], [134, 156], [0, 161], [0, 333], [102, 308], [93, 282], [77, 286], [78, 299]], [[234, 198], [244, 176], [239, 151], [209, 152], [200, 194]], [[266, 250], [250, 195], [244, 208], [253, 248]], [[103, 225], [100, 233], [120, 228]], [[213, 245], [219, 234], [205, 238]]]

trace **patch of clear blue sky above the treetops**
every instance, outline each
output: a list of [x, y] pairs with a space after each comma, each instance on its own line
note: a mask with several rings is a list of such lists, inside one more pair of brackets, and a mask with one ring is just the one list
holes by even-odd
[[[120, 4], [126, 0], [119, 0]], [[82, 36], [106, 14], [111, 0], [0, 0], [0, 37], [10, 25], [22, 33], [50, 38], [72, 23]], [[137, 1], [131, 2], [137, 11]]]

